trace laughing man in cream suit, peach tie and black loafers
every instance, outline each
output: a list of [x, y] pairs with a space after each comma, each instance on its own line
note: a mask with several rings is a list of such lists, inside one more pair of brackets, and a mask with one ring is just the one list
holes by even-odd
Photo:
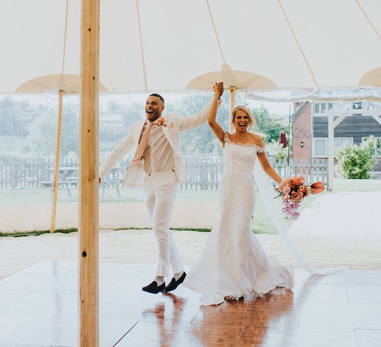
[[[216, 82], [213, 91], [222, 95], [223, 83]], [[164, 99], [159, 94], [151, 94], [145, 102], [147, 119], [136, 121], [131, 125], [127, 136], [113, 149], [99, 170], [99, 182], [101, 182], [103, 177], [138, 145], [122, 186], [133, 187], [143, 184], [144, 201], [152, 221], [159, 258], [157, 276], [152, 283], [142, 288], [149, 293], [175, 290], [187, 276], [172, 232], [169, 230], [178, 183], [185, 182], [180, 133], [205, 123], [209, 108], [210, 102], [193, 116], [182, 118], [178, 114], [171, 113], [164, 120], [161, 117]], [[166, 286], [164, 278], [169, 276], [170, 267], [174, 275]]]

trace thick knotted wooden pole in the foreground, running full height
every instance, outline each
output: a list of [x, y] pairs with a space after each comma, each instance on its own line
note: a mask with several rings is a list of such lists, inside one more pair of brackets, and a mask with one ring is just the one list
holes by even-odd
[[78, 346], [99, 346], [99, 14], [100, 0], [81, 3], [78, 199]]

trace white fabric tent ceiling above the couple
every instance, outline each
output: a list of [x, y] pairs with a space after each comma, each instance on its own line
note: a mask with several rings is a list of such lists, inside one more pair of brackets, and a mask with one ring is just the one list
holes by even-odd
[[[79, 74], [79, 4], [1, 1], [0, 92]], [[263, 76], [256, 89], [375, 86], [363, 76], [381, 65], [380, 13], [378, 0], [101, 0], [100, 81], [185, 90], [230, 65]]]

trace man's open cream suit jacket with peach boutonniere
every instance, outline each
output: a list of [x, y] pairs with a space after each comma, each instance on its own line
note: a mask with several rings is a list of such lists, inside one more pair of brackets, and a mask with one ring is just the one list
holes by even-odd
[[[219, 101], [218, 106], [222, 103]], [[197, 114], [193, 116], [180, 117], [176, 113], [171, 113], [165, 116], [165, 124], [167, 126], [160, 126], [163, 130], [165, 137], [173, 148], [173, 162], [175, 165], [175, 173], [177, 181], [185, 183], [185, 165], [183, 155], [180, 148], [180, 133], [187, 131], [205, 123], [208, 119], [209, 108], [211, 101]], [[131, 124], [128, 134], [120, 142], [107, 157], [99, 170], [99, 176], [105, 177], [111, 169], [113, 169], [122, 158], [127, 155], [131, 149], [136, 147], [139, 143], [140, 134], [143, 129], [146, 119], [138, 120]], [[144, 160], [142, 159], [138, 165], [130, 165], [127, 168], [125, 179], [122, 186], [138, 186], [142, 184], [145, 173], [143, 171]]]

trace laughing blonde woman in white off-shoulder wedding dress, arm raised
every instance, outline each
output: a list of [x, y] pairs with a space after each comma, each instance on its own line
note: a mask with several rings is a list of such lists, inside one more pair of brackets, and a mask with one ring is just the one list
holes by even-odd
[[200, 301], [206, 305], [252, 292], [261, 295], [278, 286], [291, 289], [294, 285], [294, 269], [267, 258], [251, 229], [255, 160], [276, 182], [282, 178], [269, 164], [261, 137], [248, 131], [255, 125], [249, 109], [238, 106], [233, 110], [231, 134], [216, 122], [218, 97], [214, 96], [208, 123], [223, 147], [219, 218], [183, 283], [201, 293]]

